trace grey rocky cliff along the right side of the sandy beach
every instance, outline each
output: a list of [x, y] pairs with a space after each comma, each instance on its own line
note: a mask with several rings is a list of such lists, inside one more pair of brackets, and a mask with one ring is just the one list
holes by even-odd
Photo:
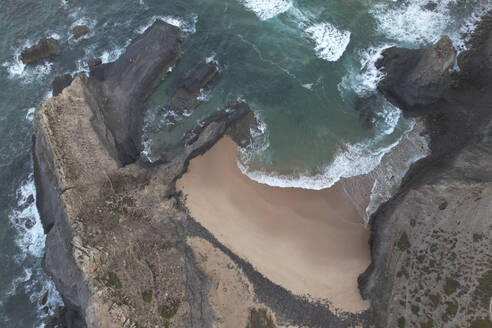
[[458, 73], [449, 71], [455, 53], [447, 37], [426, 50], [391, 48], [379, 62], [380, 90], [405, 115], [426, 120], [432, 155], [371, 218], [373, 262], [359, 286], [377, 327], [492, 326], [487, 21], [460, 55]]

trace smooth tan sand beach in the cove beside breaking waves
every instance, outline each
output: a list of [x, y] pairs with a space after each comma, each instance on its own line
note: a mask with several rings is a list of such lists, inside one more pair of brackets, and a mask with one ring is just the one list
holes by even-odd
[[272, 282], [338, 311], [368, 308], [357, 277], [370, 262], [369, 232], [341, 188], [276, 188], [237, 167], [237, 146], [222, 138], [193, 159], [177, 182], [190, 214]]

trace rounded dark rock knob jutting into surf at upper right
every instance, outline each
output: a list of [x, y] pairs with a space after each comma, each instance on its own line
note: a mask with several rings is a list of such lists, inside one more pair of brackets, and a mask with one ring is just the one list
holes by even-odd
[[378, 88], [394, 105], [418, 110], [442, 99], [455, 59], [456, 50], [447, 36], [425, 50], [389, 48], [376, 63], [386, 73]]

